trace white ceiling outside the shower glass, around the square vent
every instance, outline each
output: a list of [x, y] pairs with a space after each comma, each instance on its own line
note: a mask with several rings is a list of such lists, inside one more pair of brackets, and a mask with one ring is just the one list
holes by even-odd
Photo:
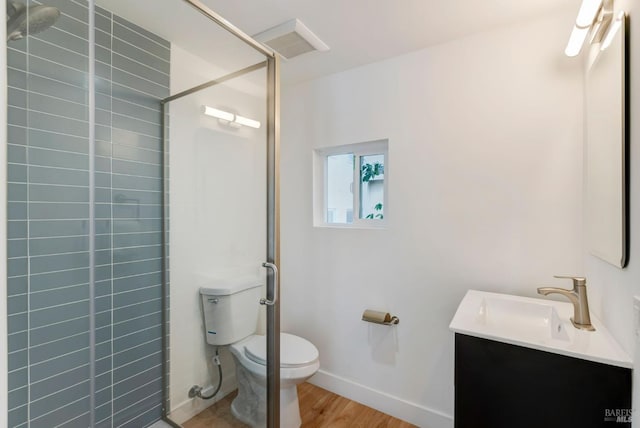
[[[580, 0], [204, 0], [253, 35], [292, 18], [329, 45], [282, 66], [285, 82], [306, 80], [575, 7]], [[567, 22], [567, 37], [571, 31]], [[562, 45], [564, 40], [559, 40]]]

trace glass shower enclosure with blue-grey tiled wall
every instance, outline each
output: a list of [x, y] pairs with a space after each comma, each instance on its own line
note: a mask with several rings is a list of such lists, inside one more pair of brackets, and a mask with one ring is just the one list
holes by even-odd
[[[179, 426], [236, 385], [199, 287], [276, 298], [278, 58], [203, 2], [158, 3], [7, 2], [10, 427]], [[279, 307], [256, 310], [277, 427]]]

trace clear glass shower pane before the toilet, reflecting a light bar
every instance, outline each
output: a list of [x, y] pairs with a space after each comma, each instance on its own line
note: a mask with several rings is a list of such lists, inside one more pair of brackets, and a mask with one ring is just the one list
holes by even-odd
[[[174, 55], [190, 54], [174, 46]], [[266, 332], [259, 303], [267, 278], [266, 66], [257, 63], [232, 74], [166, 104], [170, 417], [178, 423], [236, 389], [237, 360], [226, 345], [242, 338], [222, 338], [253, 316], [258, 322], [251, 333]], [[223, 307], [234, 289], [253, 284], [261, 287], [248, 312], [229, 313], [220, 325], [205, 328], [203, 311]], [[203, 300], [201, 288], [219, 291]], [[220, 346], [209, 344], [209, 337]]]

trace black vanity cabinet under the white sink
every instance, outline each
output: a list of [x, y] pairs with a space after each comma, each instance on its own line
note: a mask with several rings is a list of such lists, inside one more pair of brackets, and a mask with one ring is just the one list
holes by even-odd
[[455, 428], [631, 428], [631, 369], [455, 335]]

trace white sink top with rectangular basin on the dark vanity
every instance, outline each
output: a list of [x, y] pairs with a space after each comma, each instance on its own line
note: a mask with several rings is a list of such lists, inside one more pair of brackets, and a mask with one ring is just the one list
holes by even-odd
[[593, 314], [591, 323], [596, 331], [576, 329], [571, 316], [573, 305], [569, 302], [469, 290], [449, 328], [469, 336], [633, 367], [631, 358]]

